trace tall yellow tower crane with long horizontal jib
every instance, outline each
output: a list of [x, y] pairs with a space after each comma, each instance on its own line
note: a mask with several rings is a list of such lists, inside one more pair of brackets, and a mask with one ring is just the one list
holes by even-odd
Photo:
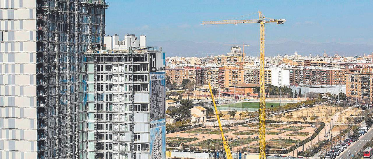
[[[251, 20], [219, 20], [219, 21], [203, 21], [202, 25], [207, 24], [260, 24], [260, 107], [259, 107], [259, 159], [266, 159], [266, 100], [264, 94], [264, 24], [277, 23], [283, 24], [285, 19], [268, 19], [259, 11], [259, 19]], [[241, 16], [243, 17], [243, 16]], [[230, 151], [229, 151], [230, 152]]]

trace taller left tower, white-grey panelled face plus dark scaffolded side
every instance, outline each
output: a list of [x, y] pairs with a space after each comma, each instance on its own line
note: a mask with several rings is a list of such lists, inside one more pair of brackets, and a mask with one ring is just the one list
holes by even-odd
[[83, 53], [103, 46], [107, 7], [0, 0], [0, 156], [97, 158], [87, 142]]

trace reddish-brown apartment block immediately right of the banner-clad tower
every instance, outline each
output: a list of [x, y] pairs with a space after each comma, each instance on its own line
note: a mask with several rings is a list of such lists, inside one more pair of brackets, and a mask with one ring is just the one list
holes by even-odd
[[170, 81], [176, 85], [181, 85], [184, 79], [194, 81], [197, 86], [204, 85], [205, 70], [197, 66], [184, 66], [175, 68], [166, 68], [166, 75], [170, 76]]

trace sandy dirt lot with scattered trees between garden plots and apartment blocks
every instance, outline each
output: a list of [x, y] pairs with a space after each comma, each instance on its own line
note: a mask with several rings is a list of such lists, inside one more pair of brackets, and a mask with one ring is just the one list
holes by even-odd
[[[342, 111], [345, 108], [343, 107], [338, 107], [338, 111]], [[337, 107], [329, 107], [329, 106], [316, 106], [316, 107], [311, 107], [311, 108], [303, 108], [301, 110], [297, 111], [292, 111], [289, 113], [285, 113], [285, 115], [276, 115], [275, 120], [280, 120], [280, 121], [315, 121], [311, 120], [310, 117], [313, 115], [316, 115], [318, 117], [318, 120], [320, 122], [325, 122], [329, 123], [331, 117], [335, 114], [337, 111]], [[292, 115], [291, 119], [286, 118], [289, 114]], [[305, 116], [306, 120], [303, 119], [298, 119], [298, 116]]]

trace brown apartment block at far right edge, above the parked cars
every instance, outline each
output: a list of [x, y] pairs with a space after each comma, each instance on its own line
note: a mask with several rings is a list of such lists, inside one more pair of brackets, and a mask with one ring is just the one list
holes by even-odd
[[346, 72], [346, 95], [353, 101], [372, 102], [373, 68], [351, 69]]

